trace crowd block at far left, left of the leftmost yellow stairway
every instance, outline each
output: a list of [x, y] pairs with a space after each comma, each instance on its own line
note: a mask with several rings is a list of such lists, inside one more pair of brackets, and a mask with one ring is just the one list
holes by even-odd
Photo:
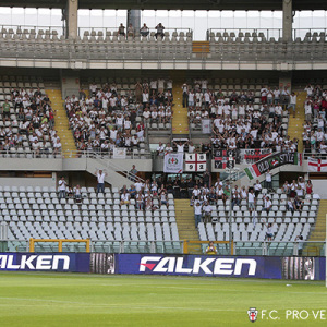
[[12, 88], [10, 96], [1, 106], [0, 150], [24, 147], [36, 157], [50, 153], [60, 155], [61, 142], [48, 96], [40, 88]]

